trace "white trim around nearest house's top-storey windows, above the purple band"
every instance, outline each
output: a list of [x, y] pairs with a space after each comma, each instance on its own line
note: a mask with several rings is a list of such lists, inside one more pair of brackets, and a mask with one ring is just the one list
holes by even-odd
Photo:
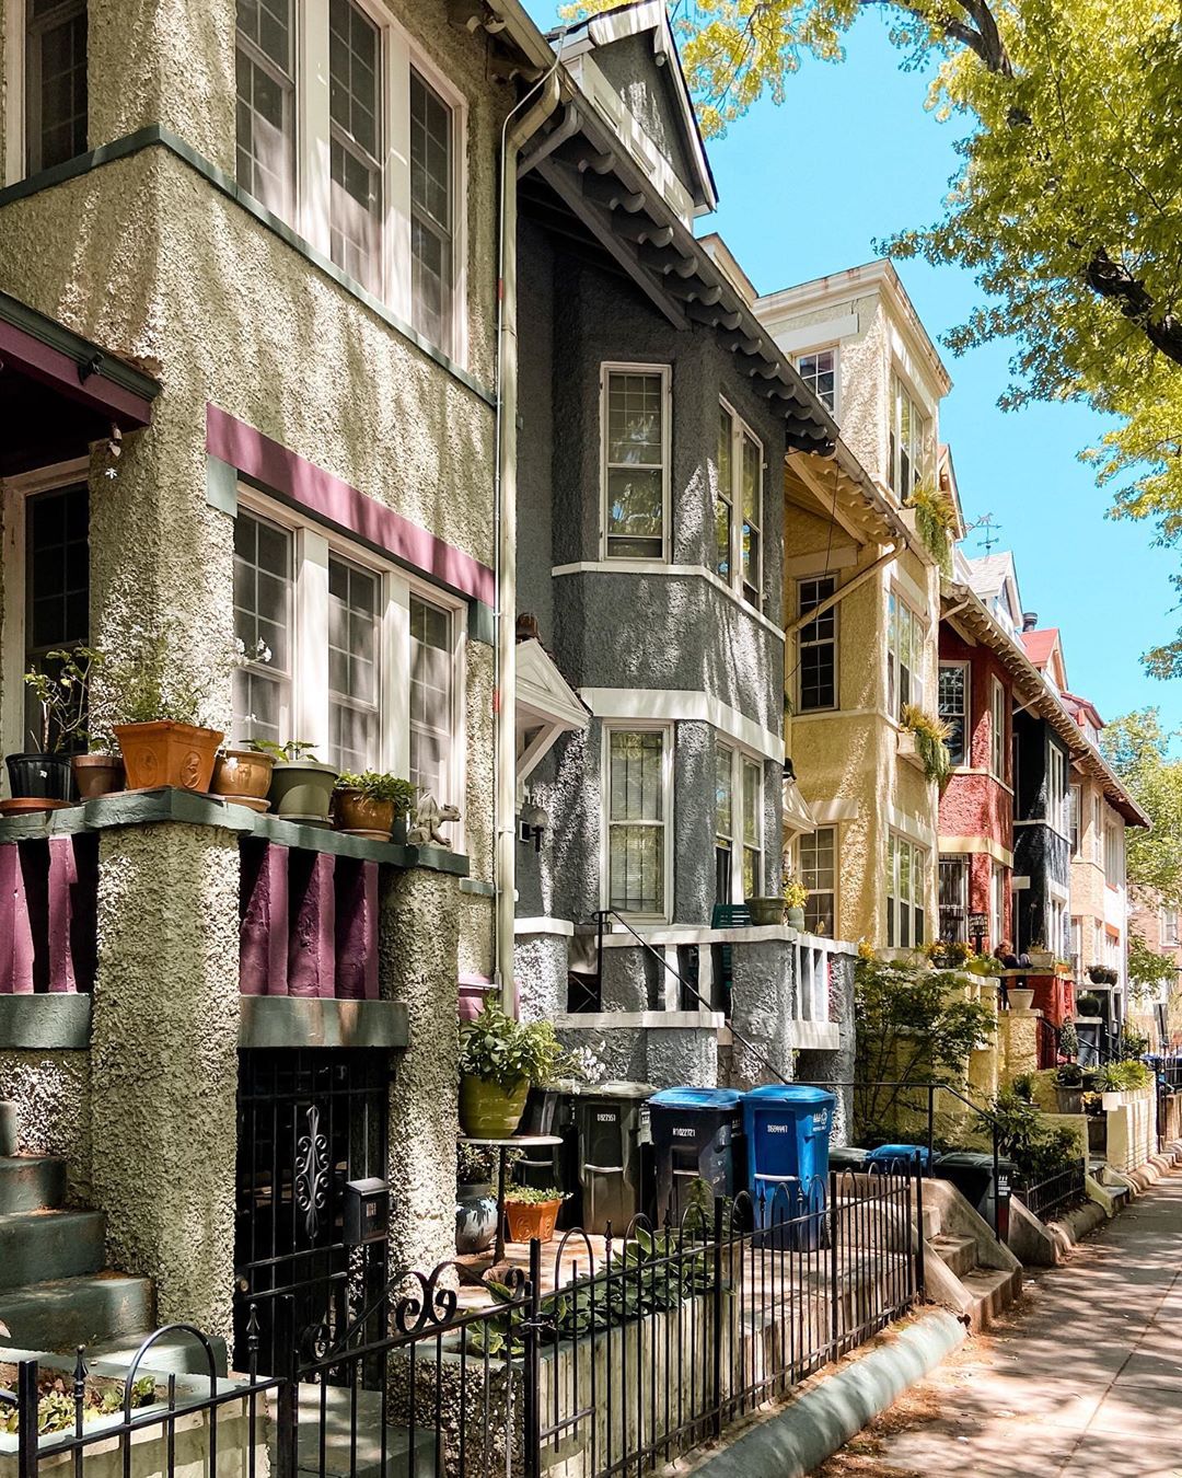
[[[9, 4], [21, 0], [9, 0]], [[381, 291], [408, 325], [411, 302], [411, 68], [452, 109], [452, 324], [436, 344], [460, 368], [468, 362], [468, 102], [460, 89], [374, 0], [350, 0], [380, 33]], [[296, 210], [293, 225], [331, 260], [331, 124], [328, 0], [296, 3]], [[358, 284], [365, 291], [365, 288]]]

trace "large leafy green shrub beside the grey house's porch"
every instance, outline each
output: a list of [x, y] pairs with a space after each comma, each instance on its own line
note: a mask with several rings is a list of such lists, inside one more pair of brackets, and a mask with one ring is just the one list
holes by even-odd
[[988, 1007], [968, 999], [954, 974], [910, 961], [858, 958], [854, 1002], [855, 1110], [867, 1134], [895, 1123], [916, 1098], [909, 1085], [962, 1077], [969, 1052], [997, 1024]]

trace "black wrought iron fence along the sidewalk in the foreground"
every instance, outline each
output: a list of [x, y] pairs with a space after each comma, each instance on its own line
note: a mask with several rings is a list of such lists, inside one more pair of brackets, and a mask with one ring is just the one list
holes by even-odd
[[[72, 1459], [75, 1478], [84, 1462], [99, 1475], [103, 1454], [112, 1478], [655, 1472], [910, 1307], [923, 1278], [922, 1194], [900, 1163], [768, 1184], [660, 1228], [637, 1218], [619, 1239], [569, 1231], [545, 1264], [535, 1242], [527, 1268], [473, 1295], [491, 1307], [465, 1307], [457, 1267], [442, 1264], [396, 1274], [343, 1333], [300, 1329], [294, 1295], [281, 1295], [284, 1370], [257, 1375], [257, 1318], [250, 1372], [230, 1380], [204, 1336], [173, 1326], [145, 1342], [126, 1383], [106, 1380], [118, 1389], [99, 1417], [81, 1360], [72, 1382], [65, 1366], [49, 1389], [22, 1361], [19, 1478], [50, 1459], [56, 1471]], [[207, 1373], [146, 1375], [154, 1344], [179, 1329], [201, 1342]], [[64, 1403], [66, 1429], [47, 1434], [46, 1411]]]

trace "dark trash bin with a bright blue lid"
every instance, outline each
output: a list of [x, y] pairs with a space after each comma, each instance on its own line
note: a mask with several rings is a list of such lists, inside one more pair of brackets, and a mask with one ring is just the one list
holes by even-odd
[[[665, 1088], [649, 1100], [656, 1172], [655, 1221], [686, 1213], [693, 1181], [734, 1196], [746, 1181], [743, 1100], [731, 1088]], [[736, 1168], [737, 1165], [737, 1168]]]

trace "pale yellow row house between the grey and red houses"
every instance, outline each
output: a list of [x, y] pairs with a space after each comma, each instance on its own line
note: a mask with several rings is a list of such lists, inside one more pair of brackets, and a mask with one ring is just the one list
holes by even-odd
[[785, 477], [785, 704], [811, 814], [793, 845], [811, 928], [913, 949], [935, 937], [938, 791], [904, 717], [934, 712], [941, 559], [918, 495], [949, 500], [950, 380], [889, 262], [761, 297], [755, 310], [829, 406], [869, 488], [844, 498], [798, 457]]

